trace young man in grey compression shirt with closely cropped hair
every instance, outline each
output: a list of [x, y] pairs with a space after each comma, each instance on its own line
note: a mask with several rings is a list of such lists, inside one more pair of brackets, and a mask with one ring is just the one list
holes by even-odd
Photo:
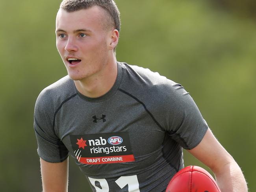
[[63, 0], [56, 44], [68, 76], [37, 98], [34, 128], [44, 192], [66, 192], [68, 153], [94, 192], [164, 192], [184, 167], [182, 148], [214, 172], [222, 192], [243, 174], [183, 87], [119, 63], [113, 0]]

